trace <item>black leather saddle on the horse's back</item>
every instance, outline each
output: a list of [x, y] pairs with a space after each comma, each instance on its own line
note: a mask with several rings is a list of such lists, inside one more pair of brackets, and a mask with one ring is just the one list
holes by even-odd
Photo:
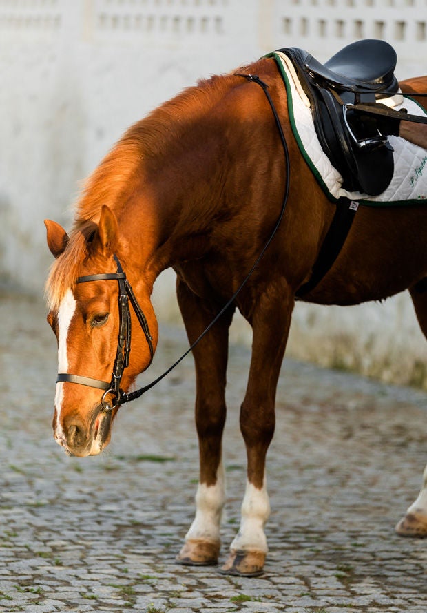
[[342, 175], [342, 187], [370, 196], [381, 194], [394, 169], [387, 136], [398, 134], [399, 123], [353, 106], [375, 106], [398, 91], [393, 47], [385, 41], [357, 41], [324, 64], [299, 48], [279, 51], [295, 66], [311, 103], [317, 138]]

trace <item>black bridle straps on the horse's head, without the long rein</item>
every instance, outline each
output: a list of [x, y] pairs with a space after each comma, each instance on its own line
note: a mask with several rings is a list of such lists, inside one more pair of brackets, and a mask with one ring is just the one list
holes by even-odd
[[[123, 372], [125, 368], [129, 366], [129, 354], [130, 354], [130, 344], [131, 344], [131, 336], [132, 336], [132, 324], [130, 318], [130, 309], [129, 302], [132, 304], [136, 317], [138, 318], [138, 322], [140, 323], [141, 328], [143, 329], [143, 333], [145, 334], [145, 338], [147, 339], [147, 344], [149, 347], [150, 360], [149, 364], [145, 368], [152, 363], [154, 356], [153, 349], [153, 337], [149, 331], [149, 326], [147, 323], [147, 318], [143, 313], [143, 310], [140, 308], [138, 304], [138, 300], [136, 300], [136, 296], [132, 287], [129, 284], [129, 281], [126, 278], [126, 273], [123, 272], [123, 268], [121, 267], [121, 263], [118, 258], [114, 256], [114, 260], [117, 264], [117, 272], [116, 273], [101, 273], [97, 275], [86, 275], [84, 277], [78, 277], [76, 283], [86, 283], [89, 281], [108, 281], [108, 280], [117, 280], [118, 281], [118, 339], [117, 339], [117, 351], [116, 351], [116, 359], [114, 360], [113, 374], [112, 380], [110, 383], [107, 381], [102, 381], [100, 379], [92, 379], [91, 377], [83, 377], [81, 375], [71, 375], [70, 373], [58, 373], [56, 377], [56, 383], [66, 382], [66, 383], [78, 383], [80, 385], [86, 385], [88, 387], [94, 387], [97, 389], [104, 390], [103, 397], [101, 400], [101, 405], [103, 407], [103, 411], [111, 411], [114, 406], [120, 406], [124, 402], [127, 402], [127, 394], [121, 389], [120, 384], [123, 377]], [[107, 395], [113, 395], [113, 404], [107, 403]]]

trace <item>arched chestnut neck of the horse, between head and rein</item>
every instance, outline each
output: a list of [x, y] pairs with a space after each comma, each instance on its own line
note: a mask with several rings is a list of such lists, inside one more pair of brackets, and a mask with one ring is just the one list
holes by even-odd
[[132, 159], [140, 161], [116, 216], [129, 260], [151, 288], [164, 269], [205, 256], [219, 225], [241, 214], [242, 198], [273, 163], [277, 134], [260, 88], [225, 76], [180, 94], [126, 138], [139, 141]]

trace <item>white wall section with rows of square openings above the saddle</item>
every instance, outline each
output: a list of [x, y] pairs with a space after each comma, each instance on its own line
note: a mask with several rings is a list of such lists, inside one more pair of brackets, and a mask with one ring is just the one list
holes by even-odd
[[399, 57], [397, 76], [426, 74], [426, 0], [273, 0], [265, 42], [287, 40], [327, 59], [357, 39], [384, 39]]

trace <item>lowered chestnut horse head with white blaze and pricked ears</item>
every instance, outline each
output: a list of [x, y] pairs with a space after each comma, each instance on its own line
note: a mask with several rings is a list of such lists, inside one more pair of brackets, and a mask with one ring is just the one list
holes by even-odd
[[[98, 224], [85, 222], [70, 238], [56, 222], [46, 220], [45, 225], [48, 247], [56, 258], [47, 286], [48, 322], [58, 342], [61, 373], [54, 400], [54, 438], [69, 455], [96, 455], [110, 442], [118, 411], [112, 388], [118, 343], [130, 350], [130, 325], [125, 339], [119, 338], [123, 329], [117, 279], [125, 275], [117, 273], [117, 256], [128, 271], [132, 262], [125, 256], [116, 216], [106, 206]], [[151, 290], [143, 278], [132, 280], [152, 336], [147, 344], [144, 331], [133, 321], [136, 315], [128, 309], [134, 351], [124, 358], [121, 392], [149, 366], [158, 337]]]

